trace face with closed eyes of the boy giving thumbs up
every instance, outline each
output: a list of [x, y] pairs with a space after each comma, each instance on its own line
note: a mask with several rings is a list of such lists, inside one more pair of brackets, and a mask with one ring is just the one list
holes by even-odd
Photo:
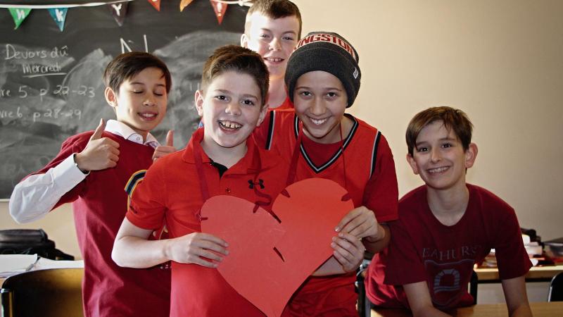
[[106, 88], [106, 101], [115, 109], [118, 121], [125, 123], [146, 139], [166, 114], [167, 93], [164, 73], [145, 68], [125, 80], [119, 92]]

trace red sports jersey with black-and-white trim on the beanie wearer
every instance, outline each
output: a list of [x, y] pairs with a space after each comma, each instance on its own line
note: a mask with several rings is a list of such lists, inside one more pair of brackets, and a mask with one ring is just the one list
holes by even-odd
[[[398, 187], [393, 154], [376, 128], [346, 114], [353, 127], [339, 144], [319, 144], [303, 135], [296, 181], [327, 178], [346, 188], [354, 206], [374, 211], [379, 223], [398, 218]], [[254, 132], [258, 144], [291, 161], [301, 121], [293, 110], [270, 111]], [[336, 225], [336, 224], [335, 224]], [[309, 278], [291, 299], [283, 316], [356, 316], [355, 275]]]

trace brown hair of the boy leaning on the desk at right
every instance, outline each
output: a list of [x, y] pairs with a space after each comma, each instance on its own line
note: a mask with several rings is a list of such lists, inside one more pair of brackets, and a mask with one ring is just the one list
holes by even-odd
[[471, 135], [473, 132], [473, 124], [467, 118], [465, 114], [460, 109], [455, 109], [448, 106], [432, 107], [427, 108], [424, 111], [417, 113], [411, 120], [407, 127], [407, 150], [409, 155], [412, 153], [417, 146], [417, 137], [426, 127], [434, 121], [441, 120], [443, 122], [444, 128], [448, 130], [453, 130], [455, 135], [462, 142], [463, 149], [467, 151], [469, 149], [469, 144], [471, 144]]

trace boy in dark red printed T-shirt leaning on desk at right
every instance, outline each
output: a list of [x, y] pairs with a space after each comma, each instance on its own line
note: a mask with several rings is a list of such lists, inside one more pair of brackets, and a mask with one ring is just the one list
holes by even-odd
[[531, 267], [514, 209], [465, 182], [477, 147], [463, 111], [428, 108], [407, 128], [407, 161], [426, 185], [399, 201], [389, 248], [374, 256], [365, 279], [377, 306], [410, 308], [415, 316], [472, 305], [474, 263], [495, 249], [510, 316], [531, 316], [524, 275]]

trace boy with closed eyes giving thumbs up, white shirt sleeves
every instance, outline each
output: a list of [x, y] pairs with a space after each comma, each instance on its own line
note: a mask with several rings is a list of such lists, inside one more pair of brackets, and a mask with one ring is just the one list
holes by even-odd
[[16, 185], [10, 213], [25, 223], [72, 202], [84, 259], [84, 316], [168, 316], [170, 270], [120, 268], [111, 248], [127, 211], [129, 178], [175, 151], [171, 134], [160, 146], [149, 133], [165, 116], [170, 72], [155, 56], [133, 52], [114, 58], [104, 81], [117, 120], [67, 139], [53, 161]]

